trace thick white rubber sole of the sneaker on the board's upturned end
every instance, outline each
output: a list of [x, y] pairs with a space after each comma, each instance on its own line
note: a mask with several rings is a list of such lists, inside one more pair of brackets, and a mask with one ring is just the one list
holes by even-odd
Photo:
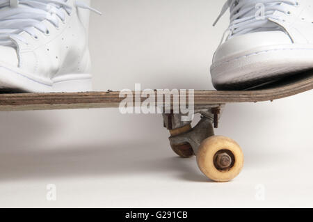
[[214, 61], [211, 77], [218, 90], [243, 90], [310, 69], [313, 69], [313, 46], [278, 45]]

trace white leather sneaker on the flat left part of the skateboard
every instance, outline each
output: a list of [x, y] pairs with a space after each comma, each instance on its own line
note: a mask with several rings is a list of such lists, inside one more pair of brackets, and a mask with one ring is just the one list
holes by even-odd
[[90, 0], [1, 0], [0, 90], [91, 90], [89, 5]]

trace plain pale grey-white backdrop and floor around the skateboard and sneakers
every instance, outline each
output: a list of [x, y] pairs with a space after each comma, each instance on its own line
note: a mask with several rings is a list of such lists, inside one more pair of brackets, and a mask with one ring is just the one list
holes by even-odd
[[[212, 89], [209, 65], [228, 15], [211, 24], [223, 3], [93, 0], [104, 13], [90, 20], [95, 89]], [[228, 105], [217, 134], [241, 144], [246, 165], [216, 184], [195, 158], [175, 157], [161, 116], [3, 112], [0, 207], [313, 207], [312, 113], [312, 92]], [[47, 184], [57, 201], [46, 200]]]

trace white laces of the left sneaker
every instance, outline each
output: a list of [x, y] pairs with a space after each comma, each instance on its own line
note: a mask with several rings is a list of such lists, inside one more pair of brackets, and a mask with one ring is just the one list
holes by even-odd
[[[75, 5], [77, 8], [92, 10], [101, 15], [83, 1], [77, 0]], [[35, 29], [49, 34], [42, 21], [47, 20], [58, 27], [60, 19], [64, 21], [65, 13], [70, 15], [72, 6], [67, 0], [0, 0], [0, 12], [0, 45], [15, 47], [11, 37], [14, 36], [27, 44], [26, 40], [18, 35], [22, 31], [34, 38], [38, 38]]]

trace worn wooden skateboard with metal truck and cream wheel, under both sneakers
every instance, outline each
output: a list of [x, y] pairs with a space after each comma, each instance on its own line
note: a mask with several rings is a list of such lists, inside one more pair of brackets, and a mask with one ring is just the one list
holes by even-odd
[[[216, 182], [227, 182], [241, 172], [243, 152], [235, 141], [225, 136], [215, 136], [214, 128], [227, 103], [266, 102], [282, 99], [313, 88], [313, 71], [295, 74], [252, 90], [216, 91], [195, 90], [193, 93], [193, 111], [200, 113], [201, 119], [195, 127], [192, 120], [186, 120], [186, 114], [172, 112], [175, 106], [175, 93], [169, 96], [170, 112], [162, 113], [163, 125], [170, 132], [170, 147], [179, 157], [196, 156], [202, 173]], [[156, 90], [157, 91], [157, 90]], [[132, 93], [139, 93], [132, 91]], [[181, 95], [177, 95], [181, 97]], [[141, 97], [140, 102], [147, 98]], [[186, 101], [188, 96], [186, 96]], [[120, 92], [88, 93], [11, 93], [0, 94], [0, 111], [31, 111], [51, 109], [91, 109], [117, 108], [125, 97]], [[136, 99], [134, 98], [133, 102]], [[179, 100], [180, 101], [180, 100]], [[157, 101], [156, 101], [157, 102]], [[157, 103], [156, 103], [157, 104]], [[161, 106], [168, 106], [164, 102]], [[190, 104], [188, 104], [189, 106]], [[136, 106], [136, 103], [135, 105]], [[157, 105], [156, 105], [157, 106]]]

